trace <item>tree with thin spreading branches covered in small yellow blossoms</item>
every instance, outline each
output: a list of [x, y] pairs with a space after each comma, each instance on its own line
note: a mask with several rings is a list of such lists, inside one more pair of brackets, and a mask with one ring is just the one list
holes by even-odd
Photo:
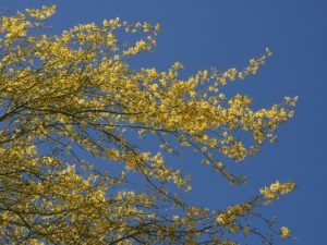
[[[154, 49], [160, 25], [105, 20], [56, 36], [44, 24], [55, 12], [52, 5], [1, 17], [1, 243], [237, 244], [239, 233], [272, 244], [291, 237], [259, 210], [289, 194], [292, 181], [208, 210], [183, 200], [191, 179], [165, 161], [193, 149], [230, 184], [245, 184], [228, 171], [228, 159], [240, 162], [272, 143], [298, 98], [253, 110], [251, 97], [226, 98], [221, 89], [256, 74], [268, 49], [244, 70], [181, 79], [179, 62], [166, 72], [128, 63]], [[141, 39], [124, 45], [119, 37], [126, 35]], [[94, 164], [100, 158], [111, 172]]]

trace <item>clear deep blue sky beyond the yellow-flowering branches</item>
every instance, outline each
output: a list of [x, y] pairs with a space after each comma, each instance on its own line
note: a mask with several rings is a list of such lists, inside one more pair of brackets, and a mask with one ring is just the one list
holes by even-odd
[[0, 9], [15, 12], [50, 3], [58, 7], [51, 20], [56, 32], [117, 16], [161, 23], [158, 47], [142, 58], [140, 66], [165, 70], [180, 61], [185, 74], [211, 66], [242, 68], [270, 47], [275, 56], [259, 74], [226, 91], [251, 95], [257, 106], [299, 95], [294, 120], [281, 125], [278, 144], [266, 145], [258, 156], [233, 168], [249, 175], [245, 187], [231, 188], [209, 169], [189, 161], [194, 182], [190, 196], [198, 205], [221, 208], [276, 180], [292, 179], [299, 188], [270, 211], [298, 240], [277, 244], [326, 244], [326, 0], [0, 0]]

